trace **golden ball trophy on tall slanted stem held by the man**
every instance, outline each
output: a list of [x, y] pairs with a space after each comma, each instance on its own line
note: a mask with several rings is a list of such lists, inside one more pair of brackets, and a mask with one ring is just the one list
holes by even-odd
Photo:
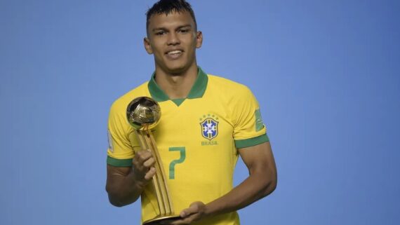
[[143, 150], [148, 149], [151, 151], [155, 161], [156, 174], [152, 178], [152, 186], [156, 194], [159, 214], [153, 219], [143, 222], [143, 225], [168, 224], [171, 221], [180, 219], [179, 215], [173, 212], [173, 204], [168, 192], [163, 163], [150, 130], [159, 123], [161, 118], [159, 104], [150, 97], [137, 97], [128, 104], [126, 117], [133, 130], [135, 130], [140, 147]]

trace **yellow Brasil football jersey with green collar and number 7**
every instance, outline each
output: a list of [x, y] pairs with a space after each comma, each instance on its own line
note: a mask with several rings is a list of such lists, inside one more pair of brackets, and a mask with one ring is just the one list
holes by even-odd
[[[126, 118], [135, 97], [147, 96], [161, 107], [161, 119], [152, 130], [166, 172], [174, 211], [194, 201], [209, 203], [233, 188], [237, 149], [268, 142], [258, 102], [246, 86], [199, 73], [185, 99], [170, 100], [154, 80], [143, 83], [112, 104], [107, 163], [131, 167], [138, 140]], [[150, 183], [151, 184], [151, 183]], [[155, 193], [147, 186], [141, 196], [142, 221], [159, 214]], [[236, 212], [198, 221], [197, 225], [238, 225]]]

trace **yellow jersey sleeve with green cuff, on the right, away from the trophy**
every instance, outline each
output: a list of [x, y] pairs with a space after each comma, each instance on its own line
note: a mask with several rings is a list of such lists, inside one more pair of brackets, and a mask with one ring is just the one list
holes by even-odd
[[262, 121], [260, 107], [251, 90], [241, 88], [235, 97], [232, 114], [234, 142], [237, 149], [269, 142], [267, 129]]

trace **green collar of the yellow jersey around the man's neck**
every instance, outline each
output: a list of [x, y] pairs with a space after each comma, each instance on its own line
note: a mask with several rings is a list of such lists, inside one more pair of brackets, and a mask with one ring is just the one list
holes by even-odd
[[[206, 92], [208, 76], [206, 73], [204, 73], [204, 71], [200, 67], [198, 68], [199, 69], [196, 81], [194, 81], [194, 85], [190, 90], [189, 95], [187, 95], [188, 99], [203, 97], [204, 93]], [[166, 95], [166, 93], [164, 93], [164, 91], [161, 90], [161, 88], [157, 85], [156, 81], [154, 80], [155, 76], [156, 72], [152, 74], [152, 79], [150, 79], [148, 84], [150, 95], [152, 95], [152, 98], [154, 98], [154, 100], [156, 100], [157, 102], [164, 102], [170, 100], [168, 95]], [[173, 100], [173, 102], [175, 101]], [[180, 102], [178, 106], [182, 104], [182, 102]], [[175, 104], [177, 104], [177, 102], [175, 102]]]

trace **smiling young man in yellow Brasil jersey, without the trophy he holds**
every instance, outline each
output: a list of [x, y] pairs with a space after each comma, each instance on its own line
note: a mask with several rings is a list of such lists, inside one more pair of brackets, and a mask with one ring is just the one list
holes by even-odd
[[[197, 31], [191, 6], [161, 0], [147, 11], [147, 53], [154, 55], [150, 81], [112, 105], [109, 115], [107, 192], [116, 206], [142, 196], [142, 221], [156, 217], [152, 189], [154, 158], [140, 149], [126, 119], [135, 97], [159, 102], [161, 120], [153, 131], [168, 189], [181, 219], [172, 224], [239, 224], [236, 210], [276, 187], [276, 167], [258, 102], [246, 86], [212, 76], [196, 64]], [[239, 157], [249, 176], [233, 188]]]

